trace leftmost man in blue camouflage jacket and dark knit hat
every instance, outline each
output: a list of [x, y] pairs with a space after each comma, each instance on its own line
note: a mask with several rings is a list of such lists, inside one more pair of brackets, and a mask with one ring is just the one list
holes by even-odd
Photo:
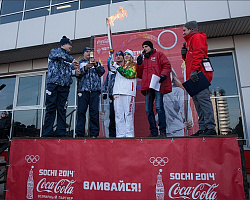
[[[66, 136], [66, 109], [72, 73], [80, 73], [79, 63], [69, 52], [72, 42], [66, 36], [60, 40], [60, 48], [50, 51], [48, 59], [46, 115], [43, 128], [43, 137]], [[57, 129], [53, 135], [53, 125], [57, 111]]]

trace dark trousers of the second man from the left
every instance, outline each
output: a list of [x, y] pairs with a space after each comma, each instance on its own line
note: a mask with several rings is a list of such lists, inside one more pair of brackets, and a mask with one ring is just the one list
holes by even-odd
[[99, 92], [78, 92], [77, 104], [77, 136], [85, 135], [86, 112], [89, 106], [89, 134], [97, 137], [99, 135]]

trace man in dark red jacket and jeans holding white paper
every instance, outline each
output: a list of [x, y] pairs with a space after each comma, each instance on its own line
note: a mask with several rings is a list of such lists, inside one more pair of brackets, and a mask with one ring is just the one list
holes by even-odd
[[[142, 79], [141, 92], [145, 95], [146, 113], [150, 125], [150, 135], [148, 137], [157, 137], [158, 128], [156, 126], [153, 110], [154, 100], [156, 112], [159, 116], [160, 136], [166, 136], [166, 116], [163, 107], [163, 94], [172, 91], [170, 79], [171, 65], [167, 57], [153, 48], [151, 41], [145, 41], [142, 44], [143, 53], [137, 58], [137, 76]], [[152, 75], [160, 77], [160, 91], [150, 88]]]

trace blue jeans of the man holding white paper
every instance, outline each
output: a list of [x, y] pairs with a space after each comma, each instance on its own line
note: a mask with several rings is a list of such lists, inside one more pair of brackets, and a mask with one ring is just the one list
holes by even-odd
[[158, 128], [156, 127], [156, 121], [154, 115], [154, 100], [155, 100], [156, 112], [158, 113], [159, 117], [160, 133], [166, 134], [166, 116], [163, 107], [163, 94], [153, 89], [150, 89], [145, 97], [146, 113], [150, 125], [150, 132], [152, 135], [158, 135]]

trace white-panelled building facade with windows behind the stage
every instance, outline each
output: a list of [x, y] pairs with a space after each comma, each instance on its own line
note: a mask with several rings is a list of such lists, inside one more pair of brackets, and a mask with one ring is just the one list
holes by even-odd
[[[198, 22], [200, 30], [208, 36], [209, 56], [217, 68], [210, 89], [214, 93], [220, 91], [226, 98], [231, 129], [242, 118], [244, 137], [250, 146], [250, 1], [0, 0], [0, 3], [0, 85], [6, 85], [0, 92], [0, 111], [7, 111], [12, 118], [12, 137], [37, 137], [42, 133], [50, 49], [57, 47], [60, 38], [66, 35], [73, 41], [71, 54], [78, 58], [85, 45], [93, 46], [93, 37], [107, 34], [106, 18], [122, 6], [128, 16], [112, 28], [115, 34]], [[75, 109], [74, 80], [67, 111], [73, 137]]]

